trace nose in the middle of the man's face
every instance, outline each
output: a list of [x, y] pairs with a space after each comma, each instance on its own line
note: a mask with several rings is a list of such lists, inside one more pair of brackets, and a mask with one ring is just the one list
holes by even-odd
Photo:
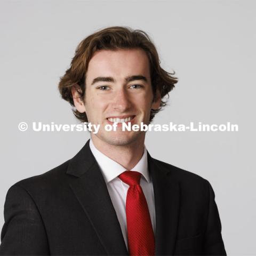
[[120, 113], [123, 113], [130, 107], [131, 100], [129, 98], [129, 93], [126, 92], [124, 88], [116, 91], [115, 96], [113, 97], [113, 108]]

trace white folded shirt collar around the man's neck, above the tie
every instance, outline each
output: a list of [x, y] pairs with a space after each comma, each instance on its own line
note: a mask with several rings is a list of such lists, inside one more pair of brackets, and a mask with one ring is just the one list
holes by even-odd
[[[127, 171], [121, 164], [118, 164], [113, 159], [107, 157], [101, 151], [99, 151], [93, 144], [92, 139], [90, 139], [90, 149], [92, 151], [93, 156], [98, 162], [103, 177], [106, 183], [118, 177], [119, 174]], [[140, 161], [132, 168], [132, 171], [137, 171], [142, 174], [142, 176], [146, 179], [146, 181], [150, 182], [150, 177], [148, 173], [148, 156], [147, 149], [144, 145], [143, 155]]]

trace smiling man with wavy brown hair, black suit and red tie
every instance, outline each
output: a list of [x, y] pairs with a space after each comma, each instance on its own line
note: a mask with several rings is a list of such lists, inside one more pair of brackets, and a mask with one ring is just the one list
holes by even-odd
[[175, 83], [143, 31], [85, 38], [59, 89], [100, 129], [69, 161], [9, 189], [0, 254], [226, 255], [210, 183], [152, 158], [145, 132], [122, 130], [149, 124]]

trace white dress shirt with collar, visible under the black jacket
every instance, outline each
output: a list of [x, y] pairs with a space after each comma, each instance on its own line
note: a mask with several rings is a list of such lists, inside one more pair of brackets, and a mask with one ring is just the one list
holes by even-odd
[[110, 195], [118, 221], [121, 226], [126, 248], [128, 249], [125, 202], [129, 185], [118, 178], [118, 175], [125, 171], [137, 171], [142, 174], [140, 179], [140, 186], [147, 200], [151, 223], [155, 234], [155, 199], [153, 183], [148, 172], [148, 157], [146, 147], [144, 146], [144, 153], [140, 161], [132, 168], [132, 170], [126, 170], [121, 164], [118, 164], [111, 158], [102, 154], [97, 148], [95, 148], [92, 139], [90, 139], [90, 149], [96, 161], [98, 162], [103, 177], [106, 181], [108, 193]]

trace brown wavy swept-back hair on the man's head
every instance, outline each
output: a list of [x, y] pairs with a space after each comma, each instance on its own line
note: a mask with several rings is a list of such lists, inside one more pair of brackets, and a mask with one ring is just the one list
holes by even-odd
[[79, 113], [75, 109], [72, 89], [74, 87], [79, 92], [81, 99], [85, 99], [85, 76], [93, 54], [100, 50], [138, 48], [145, 51], [149, 59], [153, 100], [156, 100], [157, 91], [162, 99], [159, 109], [151, 109], [150, 122], [155, 114], [166, 105], [163, 98], [166, 94], [169, 98], [169, 92], [173, 89], [174, 84], [178, 82], [178, 79], [173, 76], [174, 72], [168, 73], [161, 68], [156, 47], [147, 33], [130, 27], [107, 27], [86, 37], [78, 44], [70, 67], [66, 70], [65, 75], [60, 78], [59, 91], [61, 97], [73, 106], [73, 113], [80, 121], [88, 122], [88, 119], [86, 113]]

